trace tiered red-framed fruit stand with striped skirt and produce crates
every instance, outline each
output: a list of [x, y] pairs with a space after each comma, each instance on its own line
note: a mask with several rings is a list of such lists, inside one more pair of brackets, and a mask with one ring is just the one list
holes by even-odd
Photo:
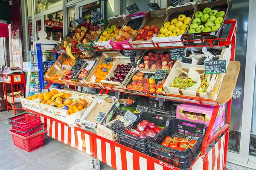
[[[226, 10], [229, 10], [229, 4], [224, 0], [213, 2], [212, 6], [225, 6]], [[203, 9], [205, 16], [199, 12]], [[70, 43], [63, 42], [65, 48], [51, 50], [52, 53], [62, 53], [62, 55], [44, 78], [49, 85], [58, 83], [70, 87], [100, 89], [99, 95], [55, 89], [49, 93], [45, 92], [46, 94], [33, 96], [34, 98], [22, 99], [23, 110], [41, 116], [48, 136], [90, 154], [90, 166], [97, 170], [100, 169], [99, 161], [117, 170], [225, 170], [231, 96], [240, 69], [239, 62], [234, 61], [236, 20], [227, 20], [225, 17], [227, 11], [226, 13], [219, 12], [216, 18], [216, 10], [209, 10], [206, 4], [199, 3], [195, 6], [196, 13], [193, 11], [194, 6], [190, 4], [175, 9], [130, 14], [126, 17], [119, 15], [109, 18], [108, 22], [104, 20], [99, 23], [83, 23], [83, 28], [87, 28], [83, 35], [80, 35], [81, 30], [83, 31], [82, 27], [77, 26], [76, 31], [72, 32], [73, 35], [69, 36], [74, 37]], [[178, 14], [180, 18], [175, 18], [175, 14]], [[189, 20], [188, 16], [193, 21], [191, 18]], [[197, 20], [199, 16], [202, 17], [200, 21]], [[143, 17], [144, 20], [142, 20]], [[225, 19], [224, 22], [220, 17]], [[211, 25], [207, 22], [207, 18], [211, 23], [219, 18], [216, 21], [218, 25]], [[172, 20], [169, 22], [169, 19]], [[156, 24], [157, 21], [159, 24]], [[209, 26], [201, 26], [201, 22], [208, 23]], [[218, 32], [224, 29], [225, 24], [231, 25], [227, 38], [212, 36], [212, 34], [207, 40], [204, 37], [201, 37], [201, 40], [184, 37], [189, 34], [201, 36], [202, 32], [206, 34], [209, 31]], [[203, 31], [205, 28], [206, 30]], [[80, 31], [79, 34], [77, 34], [78, 31]], [[188, 34], [184, 34], [186, 31]], [[63, 53], [65, 50], [67, 50], [67, 55]], [[94, 57], [93, 51], [102, 52], [102, 56]], [[139, 51], [140, 54], [134, 51]], [[193, 53], [197, 56], [192, 57]], [[180, 58], [181, 54], [185, 56]], [[204, 57], [204, 54], [209, 55]], [[215, 72], [205, 74], [205, 63], [215, 60], [225, 61], [225, 66], [227, 64], [225, 74], [215, 74]], [[181, 74], [186, 74], [186, 78], [180, 77]], [[207, 77], [211, 74], [212, 77]], [[208, 89], [205, 88], [206, 85]], [[198, 89], [197, 92], [195, 92], [195, 87]], [[111, 117], [114, 113], [116, 113], [116, 119], [121, 121], [125, 120], [125, 115], [128, 113], [119, 110], [117, 99], [114, 96], [107, 96], [109, 91], [150, 98], [142, 100], [147, 104], [150, 103], [150, 105], [145, 105], [146, 111], [138, 112], [140, 114], [135, 116], [135, 121], [125, 122], [126, 131], [118, 128], [114, 130], [114, 133], [113, 129], [108, 127], [112, 125], [108, 122], [113, 121]], [[39, 98], [41, 99], [38, 100]], [[163, 108], [172, 104], [166, 102], [165, 105], [163, 104], [164, 107], [159, 107], [158, 101], [154, 103], [153, 98], [180, 102], [177, 106], [177, 118], [179, 119], [173, 118], [176, 117], [176, 107], [174, 113], [167, 110], [164, 112]], [[139, 105], [138, 103], [140, 103], [140, 98], [134, 99], [134, 105], [128, 106], [134, 108]], [[195, 108], [193, 108], [194, 105], [196, 105]], [[225, 107], [227, 108], [226, 115]], [[202, 109], [204, 112], [190, 115], [190, 112], [196, 111], [189, 109]], [[95, 117], [96, 110], [99, 114]], [[164, 114], [159, 116], [158, 112], [161, 110]], [[215, 124], [216, 120], [218, 124]], [[136, 136], [127, 132], [136, 129], [136, 125], [140, 130], [143, 121], [153, 126], [150, 127], [147, 124], [143, 130], [152, 131], [158, 128], [157, 137], [164, 134], [161, 142], [165, 137], [179, 133], [177, 140], [184, 139], [184, 136], [192, 136], [196, 139], [195, 143], [192, 146], [189, 145], [190, 148], [186, 147], [186, 152], [180, 148], [177, 151], [166, 151], [167, 147], [160, 148], [165, 146], [163, 142], [166, 139], [161, 146], [159, 139], [148, 135], [148, 132], [145, 138], [141, 138], [141, 134]], [[190, 121], [195, 122], [192, 125]], [[184, 129], [183, 125], [191, 125], [191, 129]], [[173, 132], [174, 129], [176, 132]], [[172, 136], [172, 142], [177, 142], [176, 139], [174, 140], [175, 137]], [[136, 141], [135, 144], [130, 143], [131, 139]], [[138, 141], [139, 144], [137, 144]], [[187, 139], [187, 143], [191, 141]], [[178, 142], [180, 144], [183, 141]], [[184, 161], [185, 159], [187, 160]]]

